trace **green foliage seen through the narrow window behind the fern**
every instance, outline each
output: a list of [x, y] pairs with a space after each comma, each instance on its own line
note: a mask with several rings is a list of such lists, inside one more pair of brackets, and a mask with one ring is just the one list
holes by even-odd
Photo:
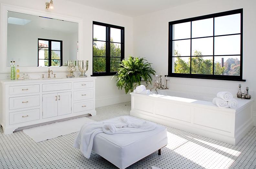
[[[97, 38], [93, 40], [93, 56], [104, 56], [104, 57], [93, 57], [93, 72], [105, 72], [106, 71], [106, 43], [103, 45], [97, 45]], [[110, 43], [110, 71], [115, 72], [120, 68], [121, 62], [121, 47], [119, 43]], [[100, 41], [99, 41], [100, 42]], [[100, 42], [101, 43], [101, 42]]]

